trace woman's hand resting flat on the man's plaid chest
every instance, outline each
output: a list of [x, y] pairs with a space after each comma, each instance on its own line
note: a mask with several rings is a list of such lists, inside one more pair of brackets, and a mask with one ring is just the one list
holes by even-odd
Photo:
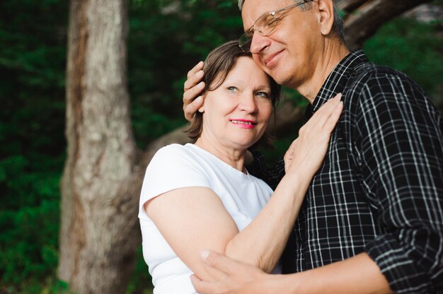
[[284, 170], [299, 170], [312, 177], [323, 163], [328, 150], [330, 134], [343, 110], [342, 95], [338, 93], [313, 114], [299, 129], [295, 139], [284, 155]]

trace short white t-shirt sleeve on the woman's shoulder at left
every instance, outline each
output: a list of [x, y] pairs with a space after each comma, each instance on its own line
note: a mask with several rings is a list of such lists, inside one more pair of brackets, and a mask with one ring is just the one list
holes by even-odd
[[143, 205], [160, 194], [184, 187], [211, 187], [205, 170], [190, 151], [171, 144], [151, 159], [144, 175], [139, 201], [139, 217], [147, 218]]

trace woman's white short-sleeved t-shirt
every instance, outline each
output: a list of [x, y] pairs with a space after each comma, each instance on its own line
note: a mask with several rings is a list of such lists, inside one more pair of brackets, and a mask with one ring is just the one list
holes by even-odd
[[157, 151], [146, 169], [139, 204], [143, 257], [149, 266], [154, 294], [190, 294], [192, 271], [173, 252], [143, 205], [149, 199], [183, 187], [209, 187], [243, 230], [270, 199], [272, 189], [193, 144], [171, 144]]

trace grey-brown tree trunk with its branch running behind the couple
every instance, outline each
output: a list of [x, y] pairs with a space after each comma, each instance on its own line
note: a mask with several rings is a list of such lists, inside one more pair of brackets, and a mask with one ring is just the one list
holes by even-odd
[[[350, 13], [348, 44], [359, 45], [382, 23], [422, 2], [339, 0]], [[159, 148], [189, 139], [181, 128], [137, 150], [126, 83], [125, 0], [71, 0], [69, 5], [68, 148], [58, 274], [75, 293], [125, 293], [140, 245], [144, 170]], [[303, 115], [282, 103], [277, 117], [279, 132]]]

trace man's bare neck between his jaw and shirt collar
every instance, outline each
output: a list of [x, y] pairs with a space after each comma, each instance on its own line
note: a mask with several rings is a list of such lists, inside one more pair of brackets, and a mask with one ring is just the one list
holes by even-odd
[[345, 44], [338, 40], [327, 42], [323, 51], [324, 53], [318, 56], [317, 66], [311, 79], [296, 87], [296, 90], [308, 99], [311, 104], [316, 99], [318, 91], [325, 83], [326, 78], [335, 69], [335, 66], [350, 53]]

